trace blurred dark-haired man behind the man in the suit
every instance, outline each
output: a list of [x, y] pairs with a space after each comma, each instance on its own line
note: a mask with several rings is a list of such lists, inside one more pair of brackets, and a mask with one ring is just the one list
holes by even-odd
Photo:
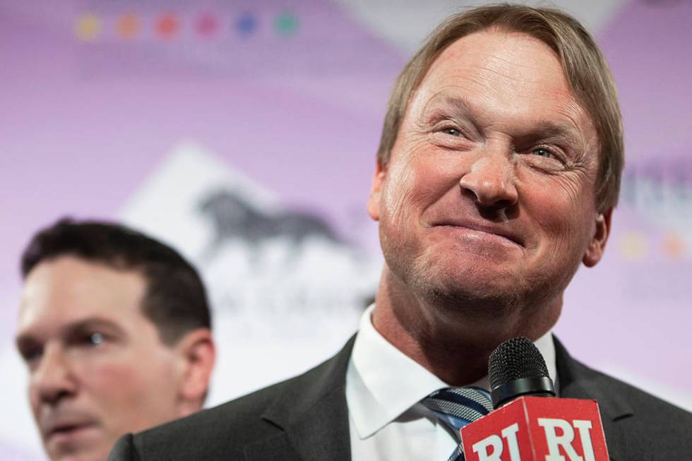
[[22, 258], [18, 350], [53, 461], [102, 461], [117, 438], [197, 412], [214, 364], [196, 270], [117, 224], [62, 220]]

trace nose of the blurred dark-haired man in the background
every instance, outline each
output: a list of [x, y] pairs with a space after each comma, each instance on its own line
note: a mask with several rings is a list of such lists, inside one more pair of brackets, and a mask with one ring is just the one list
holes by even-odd
[[64, 350], [59, 345], [47, 346], [37, 369], [32, 371], [32, 397], [52, 404], [75, 390], [76, 382]]

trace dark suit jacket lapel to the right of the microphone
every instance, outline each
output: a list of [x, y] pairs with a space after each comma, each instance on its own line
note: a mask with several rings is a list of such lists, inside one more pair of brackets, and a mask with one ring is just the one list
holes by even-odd
[[598, 402], [610, 458], [622, 460], [620, 447], [626, 443], [626, 437], [619, 430], [618, 421], [633, 417], [633, 409], [618, 393], [610, 390], [609, 381], [601, 373], [570, 357], [562, 343], [553, 338], [560, 396]]

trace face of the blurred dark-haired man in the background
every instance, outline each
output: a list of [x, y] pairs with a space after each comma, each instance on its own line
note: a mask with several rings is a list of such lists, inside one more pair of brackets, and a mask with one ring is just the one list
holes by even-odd
[[28, 275], [17, 345], [49, 457], [105, 460], [117, 438], [176, 418], [179, 360], [143, 316], [145, 280], [71, 256]]

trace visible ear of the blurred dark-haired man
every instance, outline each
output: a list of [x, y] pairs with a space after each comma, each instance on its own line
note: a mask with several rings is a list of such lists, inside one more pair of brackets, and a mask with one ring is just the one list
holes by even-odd
[[216, 358], [216, 348], [211, 331], [198, 328], [186, 333], [174, 346], [180, 366], [179, 400], [180, 416], [187, 416], [201, 409]]

